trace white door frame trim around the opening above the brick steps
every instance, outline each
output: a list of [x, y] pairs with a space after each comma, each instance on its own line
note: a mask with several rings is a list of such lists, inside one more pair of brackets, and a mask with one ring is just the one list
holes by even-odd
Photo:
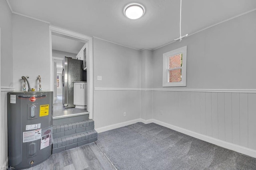
[[[63, 29], [50, 25], [49, 37], [50, 37], [50, 68], [53, 68], [52, 60], [52, 33], [58, 33], [66, 35], [68, 37], [81, 39], [87, 41], [88, 43], [88, 57], [86, 57], [86, 66], [87, 66], [87, 111], [89, 112], [89, 119], [93, 119], [93, 101], [94, 101], [94, 74], [93, 74], [93, 42], [92, 37], [80, 34], [74, 31]], [[50, 69], [50, 90], [53, 90], [53, 70]]]

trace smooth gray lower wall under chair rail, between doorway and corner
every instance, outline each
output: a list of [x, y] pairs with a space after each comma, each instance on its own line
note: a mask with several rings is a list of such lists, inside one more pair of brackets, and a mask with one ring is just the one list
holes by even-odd
[[[140, 119], [140, 110], [140, 91], [94, 91], [95, 128]], [[126, 116], [124, 116], [124, 112], [126, 112]]]

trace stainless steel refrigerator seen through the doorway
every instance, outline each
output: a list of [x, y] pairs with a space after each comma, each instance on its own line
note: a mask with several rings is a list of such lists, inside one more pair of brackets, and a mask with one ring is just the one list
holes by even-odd
[[86, 81], [83, 61], [65, 57], [62, 70], [62, 104], [65, 108], [74, 106], [74, 82]]

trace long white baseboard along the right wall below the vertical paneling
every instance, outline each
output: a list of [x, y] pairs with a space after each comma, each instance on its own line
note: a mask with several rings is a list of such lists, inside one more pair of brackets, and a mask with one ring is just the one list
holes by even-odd
[[219, 139], [215, 139], [215, 138], [212, 138], [212, 137], [209, 137], [209, 136], [206, 136], [206, 135], [202, 135], [200, 133], [189, 131], [187, 129], [183, 129], [181, 127], [177, 127], [177, 126], [174, 126], [174, 125], [170, 125], [168, 123], [164, 123], [164, 122], [158, 121], [156, 119], [153, 119], [153, 122], [158, 124], [158, 125], [168, 127], [169, 129], [172, 129], [174, 131], [178, 131], [180, 133], [184, 133], [186, 135], [195, 137], [195, 138], [200, 139], [202, 141], [206, 141], [206, 142], [212, 143], [214, 145], [218, 145], [220, 147], [230, 149], [230, 150], [234, 150], [236, 152], [246, 154], [248, 156], [252, 156], [252, 157], [256, 158], [256, 150], [252, 150], [252, 149], [249, 149], [249, 148], [246, 148], [246, 147], [241, 147], [239, 145], [235, 145], [233, 143], [228, 143], [226, 141], [221, 141]]

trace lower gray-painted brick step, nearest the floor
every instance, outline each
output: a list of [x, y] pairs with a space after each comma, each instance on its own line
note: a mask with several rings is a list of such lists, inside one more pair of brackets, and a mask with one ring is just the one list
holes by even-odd
[[97, 141], [98, 133], [93, 129], [86, 132], [75, 133], [53, 139], [52, 154], [80, 147]]

